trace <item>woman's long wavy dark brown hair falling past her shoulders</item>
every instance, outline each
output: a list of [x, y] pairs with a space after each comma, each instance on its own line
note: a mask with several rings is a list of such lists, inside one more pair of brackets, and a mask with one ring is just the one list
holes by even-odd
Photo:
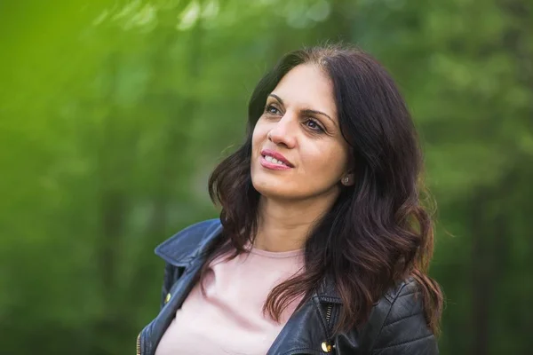
[[217, 256], [245, 252], [258, 231], [259, 193], [251, 184], [251, 134], [267, 95], [291, 68], [314, 63], [330, 76], [341, 132], [351, 146], [355, 184], [314, 225], [304, 271], [276, 286], [264, 311], [279, 320], [296, 299], [311, 296], [324, 278], [335, 281], [343, 307], [336, 331], [364, 323], [387, 288], [413, 277], [426, 321], [438, 333], [442, 292], [427, 275], [433, 255], [432, 218], [420, 203], [422, 154], [410, 113], [393, 79], [376, 59], [347, 46], [292, 51], [267, 73], [248, 106], [248, 137], [212, 172], [211, 200], [222, 207], [223, 237], [211, 247], [201, 279]]

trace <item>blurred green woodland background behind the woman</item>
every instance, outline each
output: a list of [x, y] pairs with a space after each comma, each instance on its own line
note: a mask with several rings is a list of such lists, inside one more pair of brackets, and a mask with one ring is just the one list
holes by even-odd
[[[282, 53], [344, 40], [400, 85], [438, 202], [442, 354], [533, 330], [530, 0], [0, 2], [0, 353], [132, 354], [153, 248], [206, 192]], [[238, 341], [238, 339], [235, 339]]]

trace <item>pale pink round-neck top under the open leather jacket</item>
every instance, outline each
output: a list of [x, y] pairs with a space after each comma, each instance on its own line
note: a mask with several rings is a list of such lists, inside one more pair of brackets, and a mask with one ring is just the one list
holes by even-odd
[[155, 355], [266, 354], [300, 299], [282, 314], [280, 323], [263, 313], [269, 292], [304, 265], [303, 250], [270, 252], [251, 248], [211, 263], [157, 346]]

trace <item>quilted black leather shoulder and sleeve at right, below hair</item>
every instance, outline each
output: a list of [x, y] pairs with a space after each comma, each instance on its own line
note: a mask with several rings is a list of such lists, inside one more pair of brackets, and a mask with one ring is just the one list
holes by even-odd
[[438, 354], [437, 341], [427, 326], [418, 282], [403, 280], [391, 288], [376, 305], [374, 319], [377, 336], [372, 354]]

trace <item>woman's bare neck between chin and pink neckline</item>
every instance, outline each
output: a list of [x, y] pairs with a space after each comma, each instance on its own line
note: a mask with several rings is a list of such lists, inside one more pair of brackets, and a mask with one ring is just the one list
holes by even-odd
[[277, 201], [261, 196], [254, 247], [279, 252], [304, 248], [314, 224], [335, 201], [324, 200]]

